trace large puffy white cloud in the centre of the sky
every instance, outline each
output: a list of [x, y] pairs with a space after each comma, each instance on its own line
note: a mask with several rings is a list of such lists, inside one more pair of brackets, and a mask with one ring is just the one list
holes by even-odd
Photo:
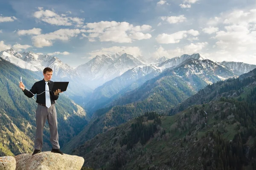
[[151, 34], [144, 34], [143, 32], [150, 31], [151, 26], [133, 26], [127, 22], [116, 21], [101, 21], [99, 23], [87, 23], [83, 28], [87, 28], [86, 35], [89, 41], [101, 42], [119, 42], [131, 43], [133, 40], [143, 40], [151, 38]]

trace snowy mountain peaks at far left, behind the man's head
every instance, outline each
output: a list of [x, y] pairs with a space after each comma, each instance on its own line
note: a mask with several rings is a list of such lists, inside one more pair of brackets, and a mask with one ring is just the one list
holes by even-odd
[[38, 55], [31, 51], [20, 54], [11, 48], [1, 51], [0, 57], [20, 68], [29, 69], [31, 71], [43, 71], [45, 67], [50, 67], [53, 69], [53, 74], [61, 78], [78, 75], [69, 65], [64, 64], [57, 57], [49, 55]]

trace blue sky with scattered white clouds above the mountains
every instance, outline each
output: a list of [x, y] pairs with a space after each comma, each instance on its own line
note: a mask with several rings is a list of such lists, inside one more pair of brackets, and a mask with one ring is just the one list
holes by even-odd
[[256, 1], [0, 0], [0, 51], [9, 48], [73, 68], [122, 50], [256, 64]]

